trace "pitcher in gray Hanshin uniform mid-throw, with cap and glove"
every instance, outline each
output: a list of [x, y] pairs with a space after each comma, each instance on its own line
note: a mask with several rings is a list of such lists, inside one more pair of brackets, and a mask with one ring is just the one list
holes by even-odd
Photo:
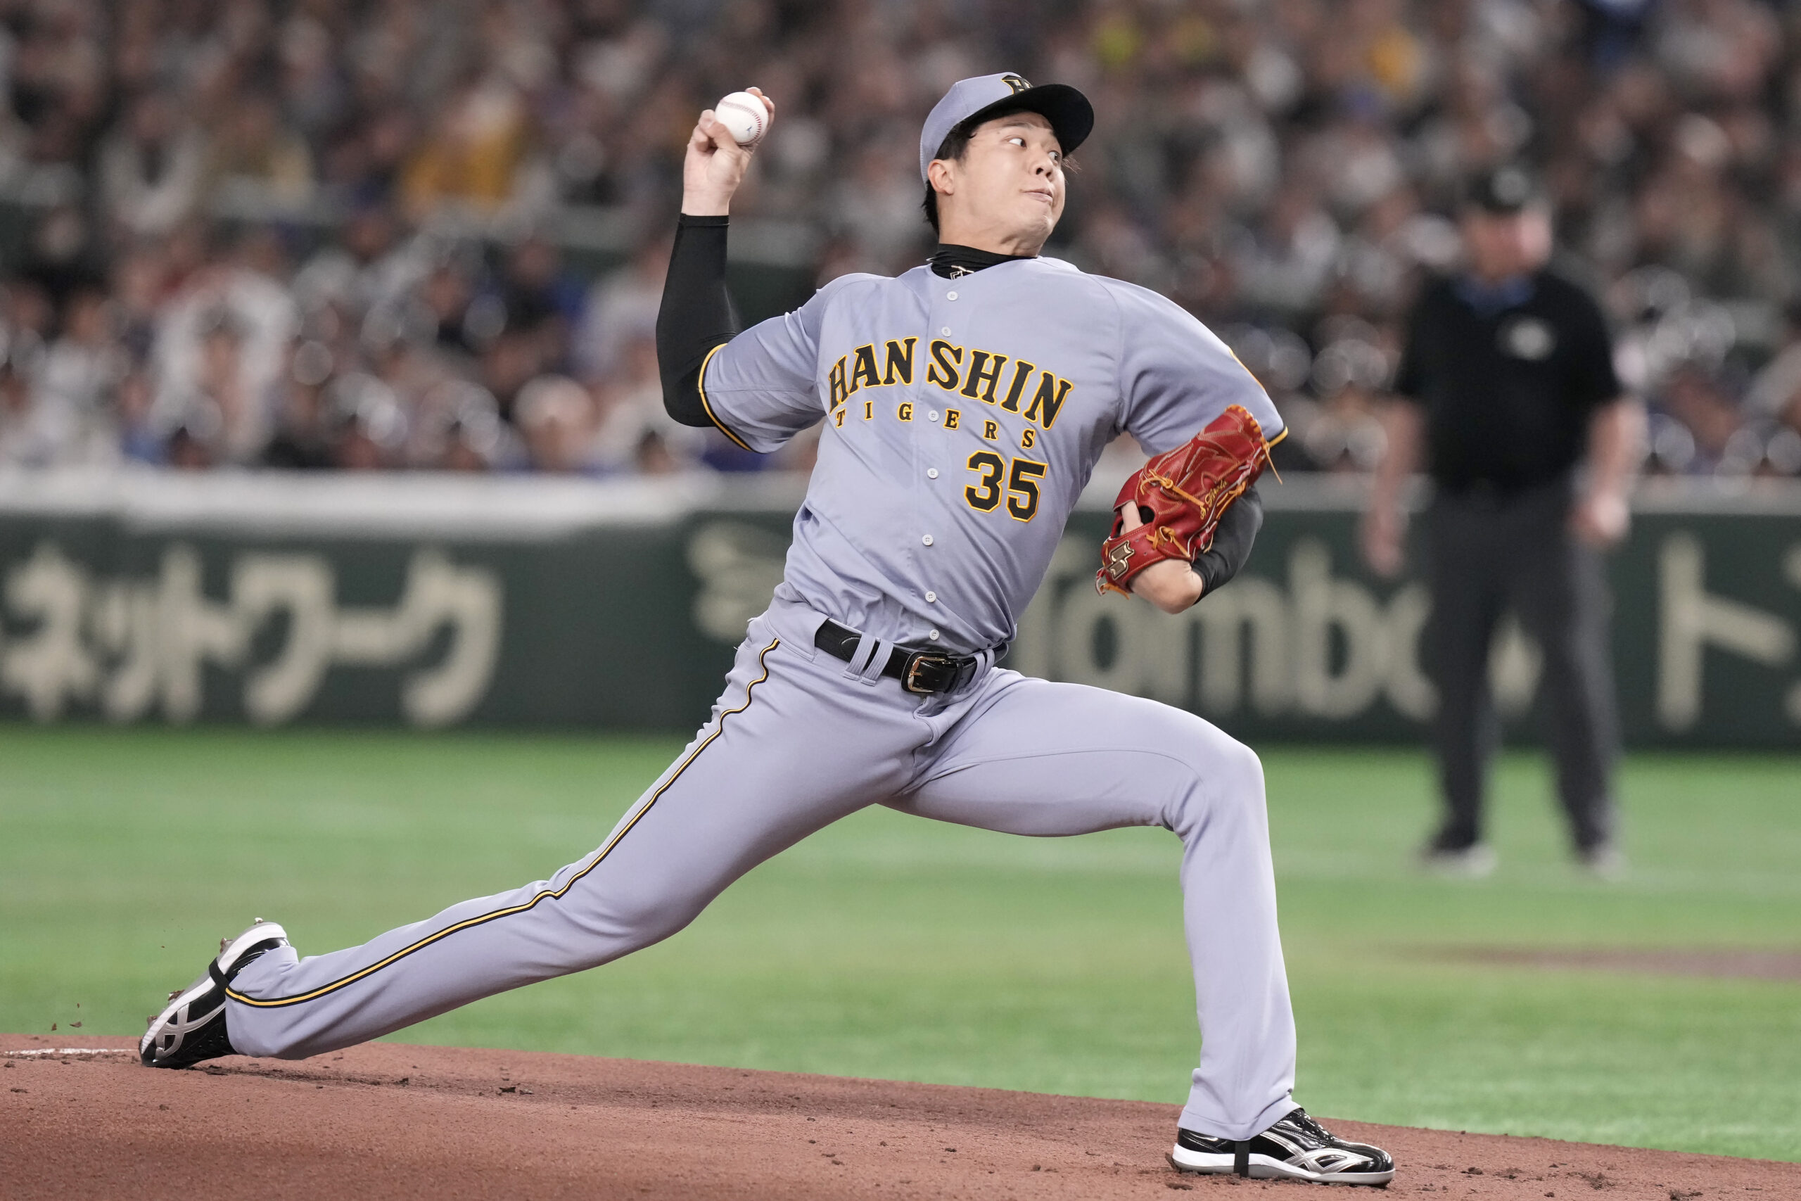
[[1163, 826], [1183, 844], [1201, 1026], [1169, 1161], [1387, 1183], [1387, 1152], [1335, 1138], [1291, 1097], [1257, 756], [1190, 713], [998, 664], [1109, 441], [1131, 434], [1153, 459], [1120, 492], [1097, 585], [1180, 612], [1243, 565], [1282, 434], [1194, 317], [1039, 256], [1064, 155], [1091, 128], [1075, 88], [956, 83], [920, 135], [929, 263], [834, 279], [740, 331], [726, 214], [755, 142], [702, 113], [657, 322], [665, 402], [760, 452], [821, 427], [785, 578], [710, 720], [598, 850], [548, 880], [308, 958], [252, 926], [171, 998], [144, 1062], [317, 1055], [598, 967], [866, 805], [1037, 837]]

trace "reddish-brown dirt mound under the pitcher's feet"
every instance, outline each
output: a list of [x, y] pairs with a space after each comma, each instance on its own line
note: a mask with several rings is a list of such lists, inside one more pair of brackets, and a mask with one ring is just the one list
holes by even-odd
[[[1147, 1102], [391, 1043], [294, 1064], [231, 1057], [151, 1071], [133, 1048], [79, 1032], [0, 1035], [0, 1194], [1315, 1196], [1178, 1176], [1163, 1165], [1176, 1109]], [[1333, 1125], [1394, 1152], [1390, 1192], [1801, 1197], [1792, 1163]]]

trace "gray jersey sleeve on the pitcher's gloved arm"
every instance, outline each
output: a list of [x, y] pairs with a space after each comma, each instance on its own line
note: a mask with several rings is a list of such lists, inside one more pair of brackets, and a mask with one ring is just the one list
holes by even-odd
[[1147, 454], [1189, 441], [1226, 405], [1248, 409], [1275, 441], [1282, 416], [1212, 330], [1145, 288], [1120, 284], [1111, 292], [1120, 308], [1120, 425]]

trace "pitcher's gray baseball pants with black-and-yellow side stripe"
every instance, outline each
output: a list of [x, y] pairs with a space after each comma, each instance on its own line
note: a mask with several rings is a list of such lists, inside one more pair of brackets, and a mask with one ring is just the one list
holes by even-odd
[[1201, 1025], [1181, 1125], [1250, 1138], [1293, 1106], [1295, 1023], [1257, 756], [1180, 709], [983, 664], [953, 695], [816, 650], [821, 614], [751, 621], [713, 715], [605, 843], [549, 880], [452, 906], [360, 947], [281, 947], [232, 981], [249, 1055], [303, 1059], [484, 996], [580, 972], [692, 922], [728, 884], [864, 805], [1039, 837], [1163, 826]]

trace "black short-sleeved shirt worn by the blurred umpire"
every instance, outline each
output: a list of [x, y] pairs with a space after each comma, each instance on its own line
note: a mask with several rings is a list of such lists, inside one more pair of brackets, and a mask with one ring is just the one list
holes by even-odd
[[1621, 393], [1599, 306], [1551, 270], [1428, 283], [1394, 391], [1426, 412], [1426, 470], [1441, 490], [1502, 495], [1567, 477], [1588, 418]]

